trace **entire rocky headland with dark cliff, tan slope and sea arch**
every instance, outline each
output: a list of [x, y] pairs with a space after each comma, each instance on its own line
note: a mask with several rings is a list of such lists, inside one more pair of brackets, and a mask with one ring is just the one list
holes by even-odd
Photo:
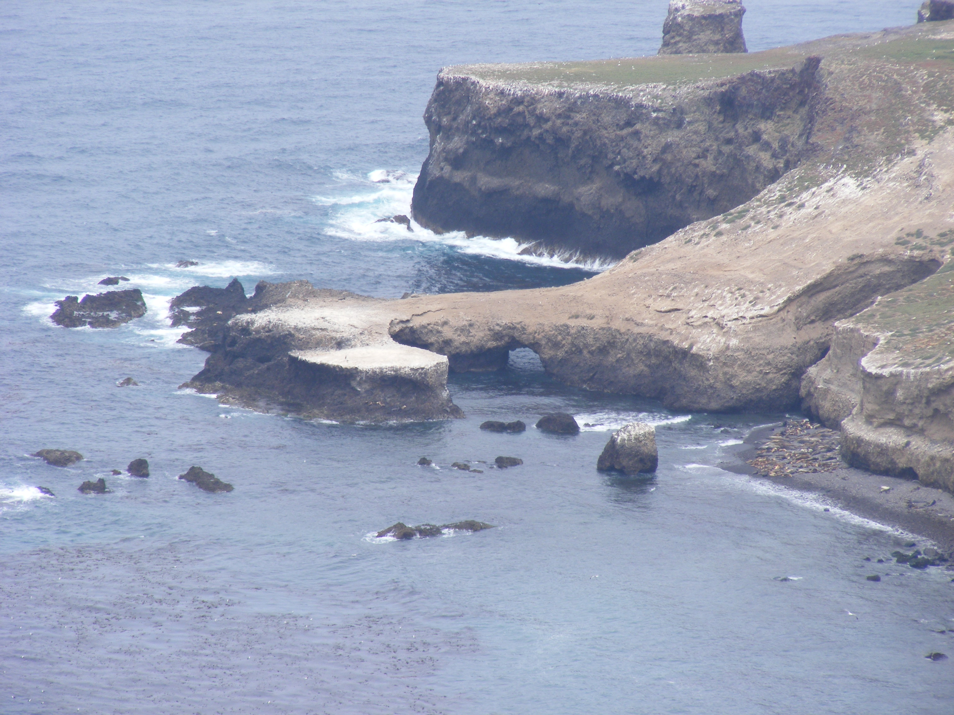
[[212, 355], [188, 384], [325, 419], [443, 419], [460, 414], [446, 371], [528, 347], [554, 378], [681, 410], [803, 404], [843, 423], [853, 463], [950, 489], [952, 41], [928, 22], [442, 71], [416, 220], [622, 260], [569, 286], [400, 300], [259, 284], [197, 328]]

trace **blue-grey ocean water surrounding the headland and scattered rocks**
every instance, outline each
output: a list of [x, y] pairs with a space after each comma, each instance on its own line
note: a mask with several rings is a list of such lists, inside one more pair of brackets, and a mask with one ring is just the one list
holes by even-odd
[[[749, 0], [745, 32], [759, 50], [909, 24], [918, 4]], [[954, 656], [952, 574], [863, 562], [912, 537], [717, 466], [782, 415], [585, 393], [526, 350], [505, 372], [453, 376], [467, 419], [446, 423], [316, 423], [177, 388], [205, 357], [166, 319], [192, 285], [307, 278], [400, 296], [605, 269], [374, 221], [408, 211], [440, 67], [649, 54], [665, 12], [665, 0], [0, 7], [0, 712], [954, 709], [954, 658], [924, 659]], [[111, 331], [49, 321], [53, 300], [119, 275], [145, 294], [145, 317]], [[139, 386], [115, 387], [128, 376]], [[536, 431], [553, 410], [591, 426]], [[484, 419], [531, 426], [492, 435]], [[656, 476], [597, 473], [610, 431], [632, 419], [657, 424]], [[44, 447], [86, 460], [29, 456]], [[498, 455], [524, 464], [482, 463]], [[148, 480], [110, 473], [138, 457]], [[462, 460], [483, 473], [449, 468]], [[235, 491], [176, 479], [193, 464]], [[76, 491], [100, 476], [111, 493]], [[374, 537], [464, 519], [496, 527]]]

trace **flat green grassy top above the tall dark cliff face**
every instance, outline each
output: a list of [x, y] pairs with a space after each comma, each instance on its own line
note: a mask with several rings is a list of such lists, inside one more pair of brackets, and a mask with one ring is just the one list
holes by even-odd
[[[491, 82], [521, 82], [554, 87], [602, 85], [618, 89], [644, 84], [678, 85], [731, 77], [757, 70], [785, 69], [805, 57], [840, 54], [860, 59], [922, 63], [954, 69], [954, 21], [926, 23], [887, 34], [845, 35], [737, 54], [668, 54], [583, 62], [533, 62], [519, 65], [465, 65], [453, 71]], [[940, 37], [939, 37], [940, 35]], [[950, 35], [950, 38], [948, 38]]]

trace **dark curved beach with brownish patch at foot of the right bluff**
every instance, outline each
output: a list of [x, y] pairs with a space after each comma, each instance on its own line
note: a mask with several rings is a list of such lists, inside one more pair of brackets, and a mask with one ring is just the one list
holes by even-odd
[[[946, 554], [954, 552], [954, 495], [942, 489], [924, 486], [918, 480], [872, 474], [846, 464], [832, 472], [798, 473], [786, 477], [760, 474], [748, 460], [755, 458], [757, 450], [781, 428], [782, 423], [778, 422], [752, 430], [742, 444], [737, 445], [733, 459], [717, 466], [727, 472], [823, 494], [852, 514], [934, 541]], [[883, 486], [890, 489], [882, 490]], [[934, 503], [910, 507], [908, 504], [912, 500]], [[954, 568], [954, 562], [941, 568]]]

